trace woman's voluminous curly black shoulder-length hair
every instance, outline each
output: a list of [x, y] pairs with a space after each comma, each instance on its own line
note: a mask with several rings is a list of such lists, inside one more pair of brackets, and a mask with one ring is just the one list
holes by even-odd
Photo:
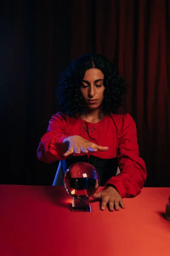
[[72, 61], [62, 73], [57, 88], [57, 98], [60, 110], [70, 116], [81, 114], [84, 110], [84, 102], [80, 87], [86, 70], [97, 68], [104, 74], [105, 86], [103, 111], [114, 112], [122, 105], [122, 96], [127, 90], [124, 79], [111, 61], [102, 55], [91, 53], [80, 56]]

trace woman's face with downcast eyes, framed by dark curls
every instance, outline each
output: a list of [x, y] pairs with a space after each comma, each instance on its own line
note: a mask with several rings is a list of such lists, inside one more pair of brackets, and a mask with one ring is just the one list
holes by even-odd
[[80, 90], [86, 107], [96, 109], [102, 104], [105, 90], [103, 79], [102, 71], [97, 68], [85, 72]]

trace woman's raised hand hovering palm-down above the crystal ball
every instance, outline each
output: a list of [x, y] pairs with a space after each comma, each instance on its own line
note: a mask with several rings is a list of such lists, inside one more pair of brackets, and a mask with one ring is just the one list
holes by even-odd
[[107, 151], [108, 147], [102, 147], [88, 140], [83, 139], [81, 136], [74, 135], [66, 137], [63, 142], [63, 148], [66, 150], [64, 156], [68, 157], [71, 154], [88, 154], [88, 152]]

